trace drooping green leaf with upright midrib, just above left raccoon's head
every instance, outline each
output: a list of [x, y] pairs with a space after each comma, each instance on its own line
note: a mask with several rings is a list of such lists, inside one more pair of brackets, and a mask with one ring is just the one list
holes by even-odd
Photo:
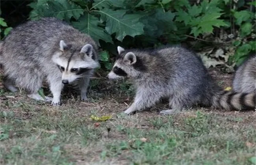
[[98, 27], [100, 21], [97, 17], [85, 13], [81, 16], [77, 22], [72, 22], [71, 24], [79, 29], [81, 32], [91, 36], [99, 44], [99, 40], [104, 40], [105, 42], [113, 43], [111, 36], [106, 32], [105, 29]]

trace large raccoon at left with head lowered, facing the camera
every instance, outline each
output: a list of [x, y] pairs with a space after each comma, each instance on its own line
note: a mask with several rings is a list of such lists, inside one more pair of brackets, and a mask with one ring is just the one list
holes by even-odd
[[[28, 97], [60, 105], [64, 84], [77, 83], [81, 99], [87, 99], [89, 77], [98, 64], [95, 41], [56, 18], [28, 21], [12, 29], [0, 44], [4, 86], [24, 88]], [[37, 91], [46, 78], [53, 98]]]

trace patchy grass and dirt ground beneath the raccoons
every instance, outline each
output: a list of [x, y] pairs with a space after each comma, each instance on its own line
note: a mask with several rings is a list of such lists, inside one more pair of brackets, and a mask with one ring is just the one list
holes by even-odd
[[[223, 89], [231, 86], [232, 74], [210, 73]], [[197, 108], [161, 116], [163, 104], [126, 116], [133, 90], [93, 81], [98, 84], [88, 101], [65, 90], [61, 107], [9, 93], [0, 83], [0, 164], [240, 165], [255, 159], [254, 111]], [[112, 118], [94, 121], [91, 115]]]

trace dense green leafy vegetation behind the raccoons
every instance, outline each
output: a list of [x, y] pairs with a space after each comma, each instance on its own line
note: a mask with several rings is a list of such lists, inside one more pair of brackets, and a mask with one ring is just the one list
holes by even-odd
[[231, 66], [256, 51], [255, 1], [40, 0], [30, 7], [31, 20], [54, 16], [94, 38], [103, 50], [104, 70], [111, 69], [118, 45], [145, 48], [186, 42], [195, 49], [222, 47], [223, 54], [210, 60]]

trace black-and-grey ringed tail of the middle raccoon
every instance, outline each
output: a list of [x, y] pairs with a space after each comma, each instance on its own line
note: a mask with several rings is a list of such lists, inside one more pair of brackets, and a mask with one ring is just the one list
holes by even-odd
[[256, 92], [223, 91], [213, 96], [212, 105], [224, 110], [253, 110], [256, 108]]

